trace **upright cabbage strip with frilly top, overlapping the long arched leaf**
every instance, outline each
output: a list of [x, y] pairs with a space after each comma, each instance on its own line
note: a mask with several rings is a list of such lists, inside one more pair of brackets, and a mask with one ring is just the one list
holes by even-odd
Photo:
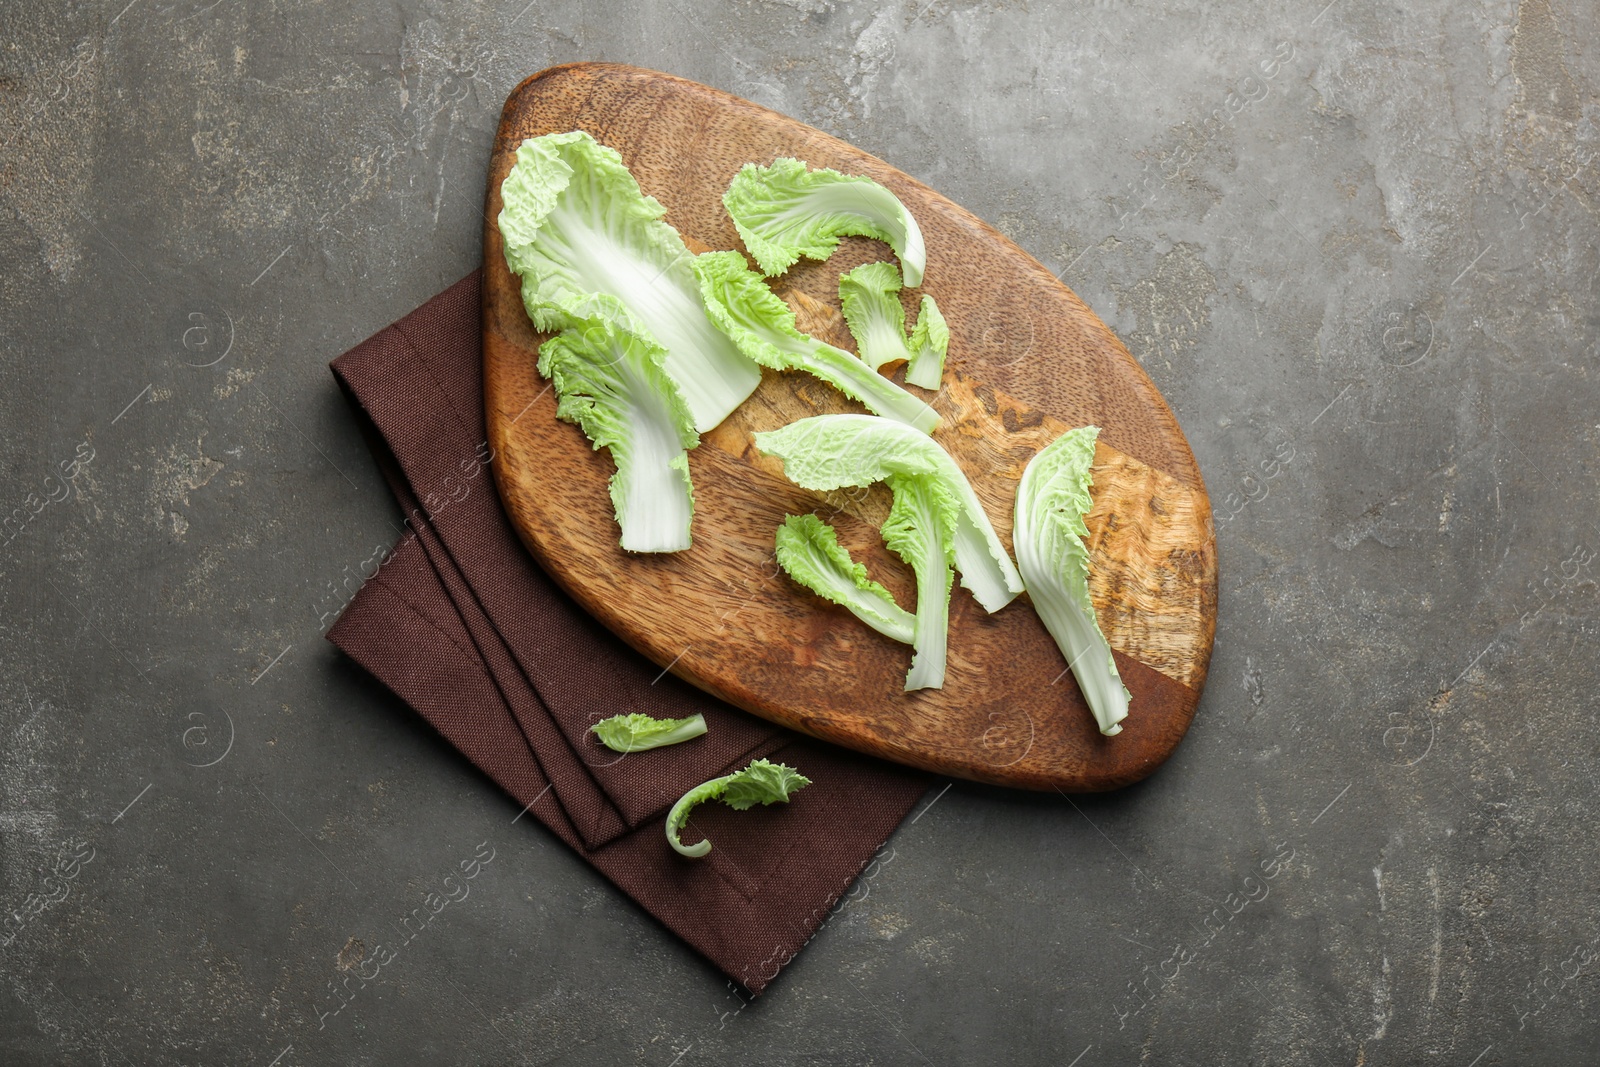
[[955, 523], [962, 502], [938, 475], [891, 474], [894, 504], [883, 522], [883, 544], [917, 574], [915, 653], [906, 691], [944, 686], [944, 651], [950, 629]]

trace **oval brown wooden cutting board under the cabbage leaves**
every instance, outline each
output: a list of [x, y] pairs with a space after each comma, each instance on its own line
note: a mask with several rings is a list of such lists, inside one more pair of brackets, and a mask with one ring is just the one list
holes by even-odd
[[[1122, 734], [1102, 737], [1027, 597], [986, 614], [957, 584], [942, 689], [904, 693], [910, 648], [818, 600], [773, 563], [786, 514], [816, 510], [907, 609], [910, 569], [878, 536], [883, 486], [811, 494], [758, 454], [754, 430], [861, 411], [805, 374], [762, 386], [690, 453], [694, 544], [672, 555], [618, 547], [613, 466], [534, 370], [534, 333], [494, 219], [525, 138], [586, 130], [621, 152], [693, 251], [739, 248], [722, 194], [741, 165], [794, 155], [866, 174], [910, 208], [928, 243], [920, 293], [950, 325], [934, 438], [962, 464], [1010, 547], [1027, 459], [1062, 430], [1102, 427], [1088, 517], [1091, 593], [1133, 693]], [[1155, 386], [1064, 285], [990, 226], [826, 133], [666, 74], [614, 64], [552, 67], [506, 101], [483, 230], [483, 379], [494, 475], [533, 555], [584, 608], [651, 661], [762, 718], [861, 752], [1002, 785], [1104, 790], [1154, 771], [1194, 717], [1216, 622], [1211, 507], [1194, 454]], [[798, 325], [854, 350], [838, 275], [891, 251], [845, 238], [774, 288]], [[923, 394], [925, 395], [925, 394]], [[605, 685], [597, 678], [597, 685]], [[618, 712], [632, 709], [618, 707]], [[802, 768], [805, 769], [805, 768]]]

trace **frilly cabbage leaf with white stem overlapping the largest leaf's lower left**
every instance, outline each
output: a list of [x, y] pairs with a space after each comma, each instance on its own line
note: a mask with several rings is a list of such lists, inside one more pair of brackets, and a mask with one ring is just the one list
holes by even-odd
[[699, 445], [661, 346], [605, 318], [581, 320], [539, 346], [555, 416], [611, 451], [611, 506], [629, 552], [690, 547], [694, 490], [686, 450]]

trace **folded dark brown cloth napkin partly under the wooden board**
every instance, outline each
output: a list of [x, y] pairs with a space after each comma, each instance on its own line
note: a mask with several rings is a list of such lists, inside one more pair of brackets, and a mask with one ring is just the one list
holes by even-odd
[[[517, 539], [490, 472], [478, 298], [474, 272], [333, 362], [408, 531], [328, 640], [525, 814], [760, 993], [930, 779], [722, 704], [629, 649], [557, 589]], [[699, 712], [709, 729], [619, 757], [589, 726], [621, 712]], [[709, 837], [710, 856], [674, 853], [666, 809], [755, 757], [789, 763], [813, 784], [787, 805], [702, 805], [686, 837]]]

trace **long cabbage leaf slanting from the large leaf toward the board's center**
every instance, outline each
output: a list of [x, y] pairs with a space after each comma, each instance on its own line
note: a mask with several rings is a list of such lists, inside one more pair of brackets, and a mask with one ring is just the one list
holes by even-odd
[[736, 251], [710, 251], [694, 258], [694, 277], [712, 322], [747, 357], [774, 371], [805, 371], [858, 400], [886, 419], [914, 426], [923, 434], [939, 424], [939, 413], [910, 395], [843, 349], [800, 333], [789, 310], [762, 275]]

